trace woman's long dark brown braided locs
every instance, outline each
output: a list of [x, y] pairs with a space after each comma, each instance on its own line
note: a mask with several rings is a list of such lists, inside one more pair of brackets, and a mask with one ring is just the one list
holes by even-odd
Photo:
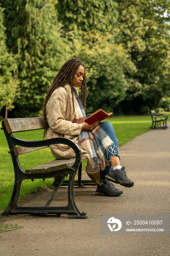
[[[80, 60], [76, 60], [74, 58], [67, 60], [60, 68], [59, 72], [57, 73], [57, 76], [55, 76], [53, 83], [51, 83], [51, 86], [50, 86], [49, 90], [47, 91], [47, 95], [44, 100], [43, 108], [42, 108], [42, 115], [43, 115], [43, 122], [44, 122], [43, 138], [45, 138], [47, 129], [49, 128], [49, 124], [47, 122], [47, 115], [46, 115], [46, 105], [51, 97], [51, 94], [57, 88], [63, 87], [66, 84], [70, 84], [71, 91], [72, 91], [72, 99], [73, 99], [72, 80], [73, 80], [74, 74], [76, 73], [76, 71], [80, 65], [82, 65], [84, 67], [84, 64]], [[85, 67], [84, 67], [84, 71], [85, 71]], [[86, 108], [87, 95], [88, 95], [88, 87], [86, 86], [86, 73], [84, 72], [84, 80], [81, 83], [81, 101], [84, 106], [84, 109]], [[73, 109], [74, 109], [74, 103], [73, 103]]]

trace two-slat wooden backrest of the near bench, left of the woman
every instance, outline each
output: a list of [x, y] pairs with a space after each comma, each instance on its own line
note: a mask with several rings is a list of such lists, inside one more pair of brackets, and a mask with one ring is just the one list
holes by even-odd
[[[14, 132], [33, 131], [33, 130], [39, 130], [44, 128], [42, 117], [8, 118], [8, 119], [5, 119], [3, 122], [9, 136], [11, 133], [14, 133]], [[46, 147], [49, 147], [49, 146], [43, 146], [43, 147], [19, 146], [19, 147], [13, 147], [13, 150], [14, 150], [14, 154], [17, 156], [17, 155], [21, 155], [27, 152], [39, 150], [41, 148], [46, 148]]]

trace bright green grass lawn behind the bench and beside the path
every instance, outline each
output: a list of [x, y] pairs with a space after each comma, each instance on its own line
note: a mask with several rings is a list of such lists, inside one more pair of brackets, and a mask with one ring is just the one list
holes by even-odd
[[[170, 113], [169, 120], [170, 120]], [[108, 118], [113, 124], [119, 146], [127, 143], [134, 137], [150, 130], [152, 121], [150, 116], [123, 116]], [[14, 134], [15, 135], [15, 134]], [[17, 133], [17, 137], [25, 140], [41, 140], [43, 138], [43, 131], [28, 131]], [[0, 211], [3, 211], [9, 203], [12, 195], [14, 185], [14, 171], [11, 155], [8, 154], [9, 148], [4, 132], [0, 130]], [[50, 148], [23, 154], [19, 157], [23, 169], [28, 167], [40, 165], [42, 163], [51, 161], [54, 157], [51, 154]], [[85, 168], [86, 161], [83, 162]], [[19, 199], [24, 198], [37, 188], [43, 186], [50, 186], [53, 183], [53, 178], [43, 180], [25, 180], [22, 182]]]

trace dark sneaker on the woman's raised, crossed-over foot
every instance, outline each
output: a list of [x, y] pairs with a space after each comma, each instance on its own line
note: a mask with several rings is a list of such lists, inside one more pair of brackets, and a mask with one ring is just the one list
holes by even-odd
[[121, 167], [121, 169], [113, 170], [113, 167], [111, 168], [110, 172], [105, 176], [108, 180], [115, 182], [117, 184], [120, 184], [124, 187], [133, 187], [134, 182], [127, 177], [125, 172], [125, 167]]

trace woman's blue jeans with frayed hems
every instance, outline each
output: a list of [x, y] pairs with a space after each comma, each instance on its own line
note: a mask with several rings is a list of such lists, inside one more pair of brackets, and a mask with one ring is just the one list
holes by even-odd
[[[102, 129], [104, 129], [104, 131], [107, 133], [107, 135], [110, 137], [110, 139], [113, 142], [112, 150], [107, 151], [109, 162], [111, 162], [112, 155], [117, 155], [120, 158], [119, 151], [118, 151], [119, 141], [116, 138], [113, 125], [110, 122], [101, 122], [99, 125], [101, 126]], [[106, 166], [105, 170], [103, 171], [100, 169], [100, 180], [106, 180], [105, 176], [109, 173], [111, 167], [112, 167], [111, 165]]]

